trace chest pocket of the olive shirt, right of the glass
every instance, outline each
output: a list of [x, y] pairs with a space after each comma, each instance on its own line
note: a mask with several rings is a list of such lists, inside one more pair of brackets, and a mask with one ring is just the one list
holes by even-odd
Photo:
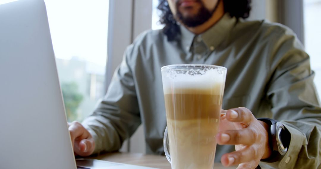
[[248, 95], [232, 96], [230, 98], [224, 98], [222, 109], [228, 110], [228, 109], [238, 108], [238, 107], [247, 108], [249, 106], [249, 99], [250, 97]]

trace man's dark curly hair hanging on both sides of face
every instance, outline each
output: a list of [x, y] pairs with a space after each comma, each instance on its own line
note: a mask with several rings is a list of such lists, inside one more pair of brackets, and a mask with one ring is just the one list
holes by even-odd
[[[220, 1], [220, 0], [219, 0]], [[229, 12], [231, 17], [247, 18], [251, 10], [251, 0], [223, 0], [224, 11]], [[167, 0], [159, 0], [157, 9], [160, 10], [160, 23], [165, 24], [163, 33], [169, 41], [174, 40], [180, 33], [177, 21], [170, 11]]]

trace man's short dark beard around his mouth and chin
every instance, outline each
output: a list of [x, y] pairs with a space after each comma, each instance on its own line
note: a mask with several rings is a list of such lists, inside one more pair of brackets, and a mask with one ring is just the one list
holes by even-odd
[[204, 22], [206, 22], [207, 20], [209, 20], [212, 17], [213, 13], [215, 12], [215, 10], [219, 4], [219, 1], [215, 5], [213, 11], [210, 11], [204, 6], [204, 3], [201, 0], [197, 0], [197, 2], [201, 4], [201, 8], [199, 9], [199, 11], [197, 12], [196, 15], [188, 16], [188, 17], [184, 17], [183, 14], [181, 12], [179, 12], [179, 9], [178, 9], [178, 7], [179, 7], [178, 2], [179, 1], [178, 1], [176, 3], [176, 11], [177, 11], [176, 18], [178, 20], [180, 20], [187, 27], [197, 27], [199, 25], [202, 25]]

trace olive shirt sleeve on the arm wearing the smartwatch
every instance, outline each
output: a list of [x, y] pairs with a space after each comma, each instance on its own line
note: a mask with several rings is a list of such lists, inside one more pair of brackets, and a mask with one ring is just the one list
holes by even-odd
[[277, 36], [272, 51], [267, 100], [272, 118], [289, 130], [291, 141], [282, 160], [266, 164], [275, 168], [320, 168], [321, 109], [309, 56], [290, 30]]

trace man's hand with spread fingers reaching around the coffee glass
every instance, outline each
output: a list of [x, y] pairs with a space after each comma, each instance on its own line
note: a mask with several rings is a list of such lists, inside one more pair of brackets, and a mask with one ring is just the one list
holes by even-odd
[[235, 145], [236, 151], [224, 154], [224, 166], [239, 165], [238, 169], [256, 168], [261, 159], [271, 155], [268, 143], [268, 125], [257, 120], [247, 108], [222, 110], [219, 133], [220, 145]]

